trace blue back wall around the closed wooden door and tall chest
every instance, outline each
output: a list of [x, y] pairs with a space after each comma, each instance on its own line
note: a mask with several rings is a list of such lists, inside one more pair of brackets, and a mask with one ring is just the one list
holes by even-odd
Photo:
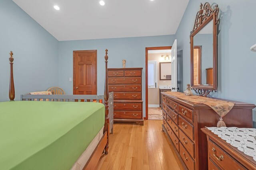
[[142, 72], [142, 98], [144, 101], [143, 111], [145, 116], [145, 65], [146, 47], [171, 46], [175, 35], [132, 37], [114, 39], [95, 39], [80, 41], [59, 42], [59, 86], [67, 94], [73, 94], [73, 82], [68, 78], [73, 77], [73, 51], [74, 50], [97, 50], [97, 89], [98, 94], [104, 92], [105, 49], [108, 49], [108, 68], [121, 68], [122, 60], [126, 60], [126, 67], [143, 67]]

